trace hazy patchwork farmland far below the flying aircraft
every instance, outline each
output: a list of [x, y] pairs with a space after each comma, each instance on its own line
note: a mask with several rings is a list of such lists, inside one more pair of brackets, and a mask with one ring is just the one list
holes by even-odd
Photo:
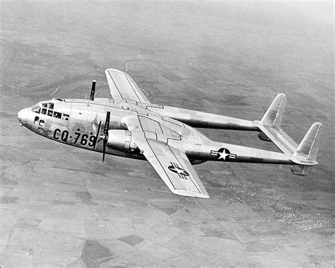
[[[324, 3], [1, 2], [1, 267], [334, 267], [334, 8]], [[283, 128], [322, 122], [319, 165], [204, 163], [210, 199], [171, 194], [144, 161], [19, 130], [18, 110], [84, 98], [107, 68], [152, 103]], [[253, 132], [217, 141], [277, 150]], [[149, 190], [151, 189], [151, 190]]]

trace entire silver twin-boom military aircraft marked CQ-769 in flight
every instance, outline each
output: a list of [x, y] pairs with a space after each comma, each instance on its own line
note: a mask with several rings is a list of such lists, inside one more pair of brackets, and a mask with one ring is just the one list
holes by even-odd
[[[112, 98], [40, 101], [18, 112], [21, 126], [64, 144], [105, 154], [147, 160], [175, 194], [208, 198], [192, 165], [205, 161], [291, 165], [307, 175], [317, 165], [321, 123], [312, 124], [300, 144], [281, 129], [286, 95], [276, 96], [260, 121], [241, 120], [150, 103], [123, 71], [105, 70]], [[194, 127], [258, 132], [283, 152], [211, 141]]]

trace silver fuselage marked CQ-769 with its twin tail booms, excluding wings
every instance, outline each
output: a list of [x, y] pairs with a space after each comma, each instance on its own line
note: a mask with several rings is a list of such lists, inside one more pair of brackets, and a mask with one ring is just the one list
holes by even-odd
[[[106, 148], [107, 154], [145, 159], [141, 151], [136, 149], [136, 144], [131, 144], [131, 133], [128, 145], [114, 144], [113, 139], [114, 137], [117, 141], [119, 135], [123, 135], [122, 131], [128, 132], [122, 122], [124, 117], [138, 115], [143, 122], [141, 131], [147, 138], [180, 148], [187, 154], [192, 164], [204, 161], [291, 163], [288, 156], [283, 153], [211, 141], [192, 126], [220, 128], [221, 121], [227, 122], [230, 117], [176, 107], [136, 101], [116, 101], [109, 98], [95, 100], [54, 98], [21, 110], [18, 118], [25, 127], [48, 139], [102, 152], [100, 136], [105, 127], [107, 111], [110, 112], [108, 129], [111, 136], [111, 143], [107, 144]], [[160, 123], [157, 131], [146, 132], [146, 124], [152, 126], [155, 122]], [[228, 128], [241, 129], [237, 123], [235, 119], [234, 124]], [[256, 128], [253, 122], [247, 120], [241, 120], [240, 124], [243, 126], [242, 130]], [[163, 129], [162, 126], [168, 129]]]

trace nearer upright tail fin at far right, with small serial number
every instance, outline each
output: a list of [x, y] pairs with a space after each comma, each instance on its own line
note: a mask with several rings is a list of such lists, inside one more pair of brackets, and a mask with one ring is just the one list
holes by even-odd
[[321, 123], [312, 124], [312, 127], [310, 127], [304, 139], [302, 139], [298, 148], [293, 153], [294, 158], [302, 158], [310, 163], [310, 165], [317, 164], [317, 152], [319, 151], [318, 134], [321, 126]]

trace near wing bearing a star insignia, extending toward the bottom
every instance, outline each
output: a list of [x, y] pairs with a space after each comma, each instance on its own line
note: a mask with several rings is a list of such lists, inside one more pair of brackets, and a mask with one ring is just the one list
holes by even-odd
[[139, 147], [155, 171], [174, 194], [188, 197], [208, 198], [208, 193], [199, 180], [196, 171], [186, 154], [180, 149], [161, 141], [146, 139], [138, 117], [130, 116], [124, 120]]

